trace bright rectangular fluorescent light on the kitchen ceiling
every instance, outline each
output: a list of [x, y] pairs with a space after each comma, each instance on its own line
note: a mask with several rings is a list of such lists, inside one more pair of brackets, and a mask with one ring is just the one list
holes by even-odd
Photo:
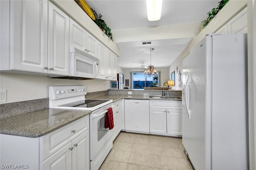
[[162, 0], [146, 0], [148, 21], [158, 21], [161, 18]]

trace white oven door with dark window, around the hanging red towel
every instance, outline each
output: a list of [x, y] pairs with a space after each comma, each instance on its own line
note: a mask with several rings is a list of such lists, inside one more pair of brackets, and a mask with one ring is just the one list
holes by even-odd
[[[112, 104], [109, 106], [111, 107]], [[105, 129], [105, 115], [108, 107], [100, 109], [99, 111], [92, 112], [90, 114], [90, 149], [91, 160], [100, 152], [100, 150], [106, 145], [110, 138], [112, 138], [112, 130]]]

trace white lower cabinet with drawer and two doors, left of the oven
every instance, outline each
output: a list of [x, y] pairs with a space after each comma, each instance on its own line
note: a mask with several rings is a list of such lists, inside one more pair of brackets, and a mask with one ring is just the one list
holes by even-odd
[[89, 170], [89, 115], [42, 137], [1, 134], [1, 164], [24, 164], [28, 170]]

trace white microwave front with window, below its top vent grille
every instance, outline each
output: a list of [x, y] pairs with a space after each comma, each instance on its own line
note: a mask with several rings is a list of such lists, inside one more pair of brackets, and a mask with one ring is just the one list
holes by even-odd
[[98, 63], [77, 53], [71, 55], [71, 76], [98, 78]]

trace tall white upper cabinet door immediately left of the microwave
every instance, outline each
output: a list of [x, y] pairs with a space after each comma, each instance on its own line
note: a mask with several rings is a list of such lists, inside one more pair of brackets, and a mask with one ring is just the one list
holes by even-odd
[[69, 74], [69, 17], [49, 3], [49, 64], [50, 74]]

